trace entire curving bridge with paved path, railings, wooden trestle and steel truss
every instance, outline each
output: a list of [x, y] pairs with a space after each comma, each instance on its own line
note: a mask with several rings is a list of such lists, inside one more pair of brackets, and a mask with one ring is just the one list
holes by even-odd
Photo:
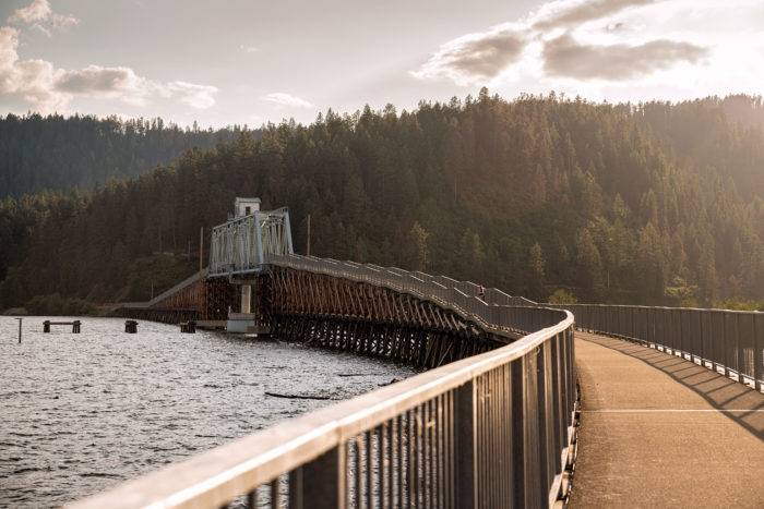
[[764, 505], [763, 313], [536, 304], [288, 235], [284, 209], [232, 218], [205, 272], [126, 313], [230, 307], [426, 371], [73, 507]]

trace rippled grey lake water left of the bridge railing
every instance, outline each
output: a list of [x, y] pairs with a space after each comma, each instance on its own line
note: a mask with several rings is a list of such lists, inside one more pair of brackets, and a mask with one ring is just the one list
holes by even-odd
[[[353, 354], [118, 318], [0, 317], [0, 507], [50, 507], [415, 372]], [[62, 319], [62, 318], [59, 318]], [[343, 376], [344, 375], [344, 376]], [[350, 375], [350, 376], [348, 376]]]

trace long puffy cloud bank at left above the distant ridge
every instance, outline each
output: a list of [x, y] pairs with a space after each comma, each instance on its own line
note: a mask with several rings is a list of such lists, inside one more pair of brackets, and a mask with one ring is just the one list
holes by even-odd
[[21, 60], [17, 49], [19, 31], [0, 27], [0, 94], [21, 95], [41, 112], [65, 110], [74, 97], [117, 99], [139, 106], [160, 97], [206, 109], [215, 105], [218, 92], [214, 86], [183, 81], [156, 82], [126, 66], [56, 69], [45, 60]]

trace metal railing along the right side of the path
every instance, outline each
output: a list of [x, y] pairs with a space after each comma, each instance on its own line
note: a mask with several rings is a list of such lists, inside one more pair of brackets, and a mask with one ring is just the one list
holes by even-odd
[[764, 391], [764, 313], [605, 304], [559, 307], [571, 311], [582, 329], [645, 343]]

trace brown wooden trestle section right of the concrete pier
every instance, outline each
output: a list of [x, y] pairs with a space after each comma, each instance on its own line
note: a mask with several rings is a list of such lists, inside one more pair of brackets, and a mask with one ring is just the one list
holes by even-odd
[[384, 287], [273, 267], [272, 331], [288, 341], [431, 368], [497, 348], [456, 313]]

